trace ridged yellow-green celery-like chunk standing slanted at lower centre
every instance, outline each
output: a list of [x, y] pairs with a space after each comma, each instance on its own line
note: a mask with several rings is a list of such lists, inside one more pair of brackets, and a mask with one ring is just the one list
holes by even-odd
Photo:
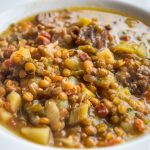
[[88, 104], [81, 104], [78, 108], [71, 111], [69, 124], [73, 125], [81, 122], [88, 117]]

